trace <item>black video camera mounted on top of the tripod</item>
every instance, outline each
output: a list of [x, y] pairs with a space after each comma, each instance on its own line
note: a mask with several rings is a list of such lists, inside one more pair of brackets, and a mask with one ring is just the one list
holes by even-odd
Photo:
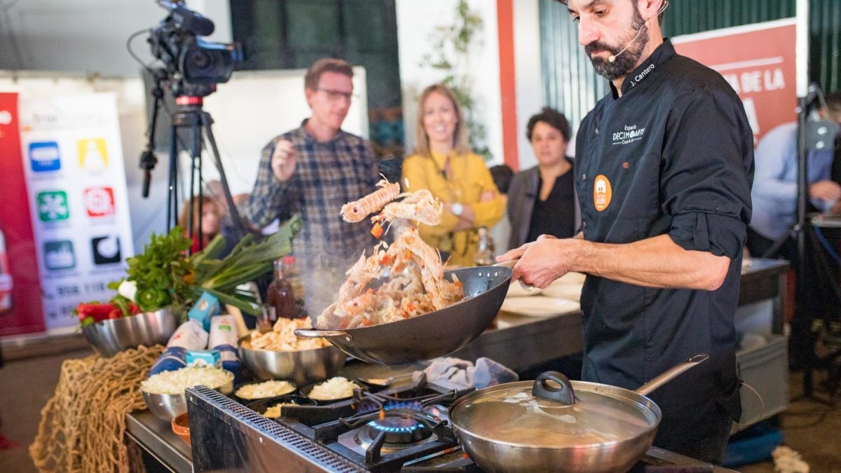
[[152, 55], [164, 62], [162, 72], [176, 97], [205, 97], [216, 84], [228, 82], [235, 64], [242, 61], [239, 44], [214, 43], [198, 36], [213, 34], [210, 19], [193, 12], [180, 1], [157, 0], [170, 14], [151, 29]]

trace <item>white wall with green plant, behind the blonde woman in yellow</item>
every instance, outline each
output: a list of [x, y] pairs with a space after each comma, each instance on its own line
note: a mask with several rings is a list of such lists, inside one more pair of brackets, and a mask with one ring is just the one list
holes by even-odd
[[[446, 75], [421, 67], [421, 57], [432, 52], [429, 38], [435, 27], [452, 24], [457, 4], [457, 0], [397, 0], [397, 40], [407, 150], [415, 144], [418, 96], [424, 88], [441, 81]], [[502, 162], [502, 110], [496, 2], [469, 0], [468, 4], [484, 21], [484, 29], [477, 40], [481, 47], [477, 47], [475, 54], [468, 59], [468, 69], [473, 71], [474, 110], [479, 117], [484, 117], [487, 144], [494, 155], [494, 161], [489, 164], [499, 164]]]

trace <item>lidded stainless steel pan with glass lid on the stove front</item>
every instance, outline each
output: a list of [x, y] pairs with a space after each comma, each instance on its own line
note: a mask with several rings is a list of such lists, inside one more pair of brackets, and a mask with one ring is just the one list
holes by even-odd
[[487, 472], [627, 471], [651, 446], [662, 416], [646, 395], [707, 358], [696, 355], [636, 391], [549, 371], [463, 396], [450, 422]]

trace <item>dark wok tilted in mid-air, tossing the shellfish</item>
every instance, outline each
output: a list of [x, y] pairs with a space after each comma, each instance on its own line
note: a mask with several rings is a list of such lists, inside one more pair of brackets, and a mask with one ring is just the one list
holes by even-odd
[[299, 337], [324, 337], [341, 351], [374, 364], [408, 364], [434, 359], [467, 345], [494, 320], [505, 300], [513, 271], [500, 266], [453, 269], [444, 273], [463, 284], [464, 299], [440, 311], [398, 322], [346, 330], [295, 330]]

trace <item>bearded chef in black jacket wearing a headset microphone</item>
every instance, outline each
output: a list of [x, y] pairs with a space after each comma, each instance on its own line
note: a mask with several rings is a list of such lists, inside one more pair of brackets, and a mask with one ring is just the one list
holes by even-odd
[[733, 314], [752, 130], [722, 76], [664, 40], [666, 0], [562, 3], [611, 82], [576, 140], [581, 234], [543, 237], [498, 260], [521, 257], [514, 278], [541, 288], [569, 271], [588, 274], [584, 380], [635, 389], [709, 354], [651, 394], [663, 410], [654, 445], [720, 463], [741, 416]]

